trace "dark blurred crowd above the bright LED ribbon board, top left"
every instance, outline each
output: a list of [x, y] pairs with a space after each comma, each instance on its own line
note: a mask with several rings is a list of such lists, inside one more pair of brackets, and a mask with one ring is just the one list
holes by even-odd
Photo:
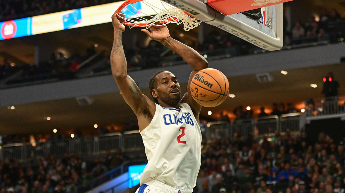
[[78, 9], [99, 4], [112, 3], [110, 0], [0, 0], [0, 22], [35, 15], [55, 13], [71, 9]]

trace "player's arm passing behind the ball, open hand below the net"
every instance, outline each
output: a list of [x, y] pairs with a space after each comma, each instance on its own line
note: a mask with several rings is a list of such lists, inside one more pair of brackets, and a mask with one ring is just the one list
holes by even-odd
[[190, 82], [194, 75], [204, 68], [208, 68], [208, 63], [203, 56], [201, 56], [193, 48], [173, 39], [170, 37], [169, 30], [166, 26], [151, 26], [150, 31], [142, 29], [151, 39], [161, 42], [163, 45], [167, 46], [170, 50], [178, 53], [189, 65], [193, 67], [188, 80], [187, 93], [181, 99], [181, 102], [189, 104], [195, 117], [199, 118], [199, 113], [201, 110], [201, 105], [195, 102], [190, 93]]

